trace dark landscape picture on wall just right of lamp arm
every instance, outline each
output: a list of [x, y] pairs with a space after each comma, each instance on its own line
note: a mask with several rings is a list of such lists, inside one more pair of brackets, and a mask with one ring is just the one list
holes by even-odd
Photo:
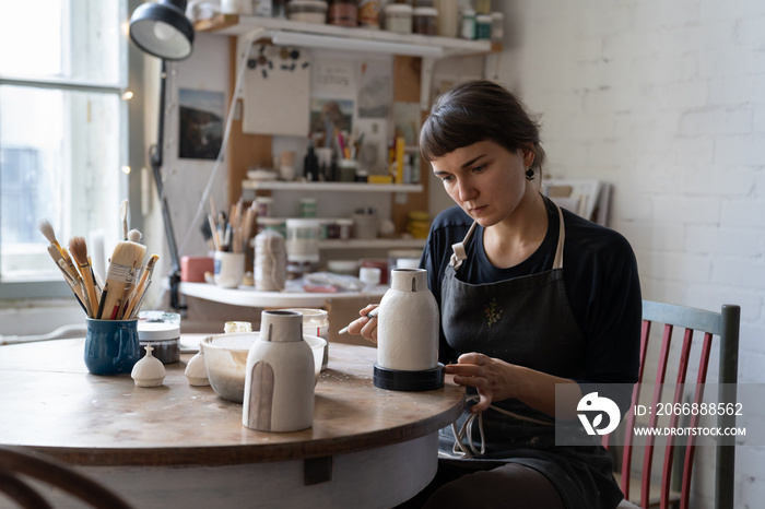
[[223, 143], [223, 92], [178, 90], [178, 157], [216, 159]]

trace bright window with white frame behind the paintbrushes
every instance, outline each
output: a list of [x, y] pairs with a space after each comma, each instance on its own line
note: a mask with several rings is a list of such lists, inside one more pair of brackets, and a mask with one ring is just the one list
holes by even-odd
[[0, 283], [61, 281], [40, 218], [62, 246], [120, 235], [127, 21], [126, 0], [3, 2]]

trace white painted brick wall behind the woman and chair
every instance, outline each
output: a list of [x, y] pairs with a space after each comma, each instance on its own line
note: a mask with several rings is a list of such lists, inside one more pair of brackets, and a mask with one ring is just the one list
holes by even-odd
[[[765, 383], [765, 2], [502, 3], [490, 78], [542, 114], [548, 171], [614, 185], [646, 298], [740, 304], [740, 380]], [[694, 507], [711, 507], [708, 452]], [[764, 459], [739, 447], [737, 507], [762, 507]]]

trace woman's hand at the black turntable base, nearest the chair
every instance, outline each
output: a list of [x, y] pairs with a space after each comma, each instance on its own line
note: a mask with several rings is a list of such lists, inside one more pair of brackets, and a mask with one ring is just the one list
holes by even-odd
[[479, 402], [470, 411], [480, 413], [489, 409], [493, 401], [517, 398], [516, 370], [518, 366], [487, 355], [462, 354], [457, 364], [449, 364], [445, 370], [455, 375], [455, 383], [478, 389]]

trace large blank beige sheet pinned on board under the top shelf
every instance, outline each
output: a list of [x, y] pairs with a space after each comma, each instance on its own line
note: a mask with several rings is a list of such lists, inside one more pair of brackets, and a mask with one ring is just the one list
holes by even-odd
[[245, 73], [242, 131], [307, 137], [311, 74], [307, 51], [266, 46], [255, 52], [255, 68]]

